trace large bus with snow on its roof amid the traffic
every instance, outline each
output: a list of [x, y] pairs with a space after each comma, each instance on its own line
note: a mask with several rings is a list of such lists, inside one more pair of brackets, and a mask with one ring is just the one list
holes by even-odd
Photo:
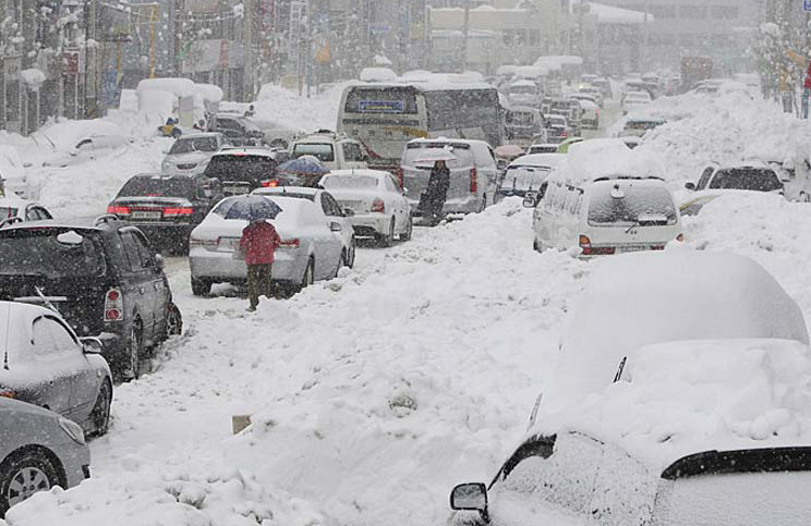
[[469, 138], [501, 144], [498, 91], [483, 83], [364, 83], [341, 97], [337, 130], [366, 149], [371, 168], [400, 167], [413, 138]]

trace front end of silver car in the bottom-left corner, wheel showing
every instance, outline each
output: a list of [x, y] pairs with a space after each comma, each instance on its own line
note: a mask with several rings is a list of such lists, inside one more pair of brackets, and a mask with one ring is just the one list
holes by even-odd
[[71, 488], [90, 476], [90, 450], [77, 424], [2, 396], [0, 460], [0, 518], [37, 491]]

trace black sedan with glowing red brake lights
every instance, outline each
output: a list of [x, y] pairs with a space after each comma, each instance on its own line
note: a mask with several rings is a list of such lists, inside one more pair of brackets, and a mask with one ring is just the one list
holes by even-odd
[[222, 198], [221, 184], [205, 175], [140, 174], [124, 183], [107, 213], [136, 225], [157, 246], [189, 252], [189, 234]]

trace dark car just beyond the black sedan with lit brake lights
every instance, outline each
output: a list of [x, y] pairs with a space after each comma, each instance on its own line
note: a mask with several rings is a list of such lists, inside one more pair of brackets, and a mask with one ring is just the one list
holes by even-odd
[[285, 184], [278, 168], [291, 158], [280, 149], [228, 148], [211, 157], [203, 176], [220, 181], [226, 196], [250, 194], [261, 186]]

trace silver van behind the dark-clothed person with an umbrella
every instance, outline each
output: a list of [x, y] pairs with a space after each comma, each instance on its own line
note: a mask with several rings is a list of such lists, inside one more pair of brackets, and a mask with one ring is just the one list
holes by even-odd
[[416, 138], [409, 140], [400, 162], [401, 186], [419, 212], [421, 195], [428, 187], [429, 164], [422, 164], [428, 150], [448, 150], [453, 159], [448, 160], [450, 186], [443, 211], [445, 213], [480, 212], [493, 203], [498, 183], [498, 167], [493, 148], [484, 140], [459, 138]]

